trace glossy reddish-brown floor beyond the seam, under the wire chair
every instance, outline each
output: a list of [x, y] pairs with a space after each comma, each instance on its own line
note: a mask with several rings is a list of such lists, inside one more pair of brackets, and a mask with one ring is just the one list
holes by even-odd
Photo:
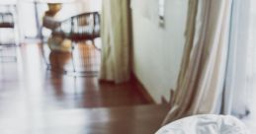
[[[41, 50], [36, 44], [24, 45], [19, 52], [17, 62], [1, 63], [0, 100], [2, 101], [20, 103], [19, 105], [32, 102], [35, 105], [30, 105], [33, 106], [30, 108], [40, 107], [43, 110], [148, 103], [131, 83], [99, 84], [97, 77], [74, 77], [46, 70]], [[69, 64], [70, 58], [64, 55], [65, 53], [51, 53], [50, 60], [54, 61], [51, 64], [53, 66]], [[61, 59], [66, 62], [61, 62]]]

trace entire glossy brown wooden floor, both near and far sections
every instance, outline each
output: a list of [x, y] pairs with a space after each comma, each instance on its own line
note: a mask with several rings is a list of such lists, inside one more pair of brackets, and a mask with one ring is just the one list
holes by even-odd
[[168, 111], [131, 83], [45, 70], [37, 44], [17, 51], [17, 62], [0, 63], [1, 134], [149, 134]]

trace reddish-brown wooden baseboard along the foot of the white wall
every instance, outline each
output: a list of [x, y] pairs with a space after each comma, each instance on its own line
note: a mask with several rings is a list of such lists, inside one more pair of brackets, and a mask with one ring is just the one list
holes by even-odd
[[142, 83], [136, 78], [134, 74], [131, 74], [130, 77], [131, 83], [136, 87], [139, 94], [145, 98], [149, 103], [156, 104], [157, 102], [152, 98], [152, 96], [147, 92]]

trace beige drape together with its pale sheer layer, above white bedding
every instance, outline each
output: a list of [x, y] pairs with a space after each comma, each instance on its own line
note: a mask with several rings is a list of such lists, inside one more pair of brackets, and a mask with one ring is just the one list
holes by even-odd
[[181, 71], [164, 124], [193, 114], [249, 113], [249, 12], [250, 0], [189, 1]]

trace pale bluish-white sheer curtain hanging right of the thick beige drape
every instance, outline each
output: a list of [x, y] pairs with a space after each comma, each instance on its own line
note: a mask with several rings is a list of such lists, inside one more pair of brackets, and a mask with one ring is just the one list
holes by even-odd
[[224, 105], [222, 113], [239, 117], [249, 109], [249, 87], [247, 87], [247, 49], [249, 44], [250, 1], [233, 0], [231, 31], [226, 83], [224, 87]]

